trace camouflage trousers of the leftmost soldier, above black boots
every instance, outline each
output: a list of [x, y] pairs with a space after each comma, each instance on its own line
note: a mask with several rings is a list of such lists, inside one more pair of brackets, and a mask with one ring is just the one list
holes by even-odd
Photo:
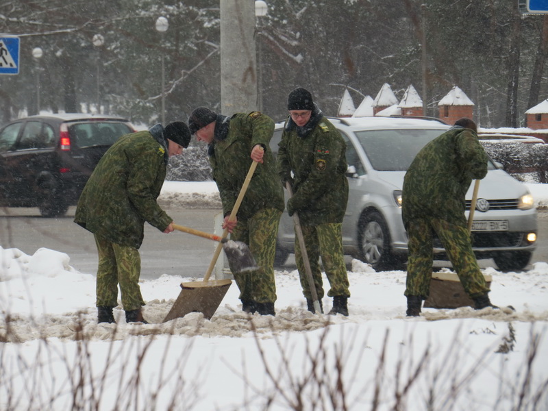
[[99, 252], [97, 269], [97, 307], [118, 306], [118, 284], [125, 311], [137, 310], [145, 305], [139, 288], [141, 259], [138, 249], [114, 244], [95, 236]]

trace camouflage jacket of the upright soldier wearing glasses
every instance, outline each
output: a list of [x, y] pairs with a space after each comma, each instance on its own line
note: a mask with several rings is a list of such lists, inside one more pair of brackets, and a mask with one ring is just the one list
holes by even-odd
[[302, 225], [343, 222], [348, 201], [345, 155], [345, 140], [317, 108], [304, 127], [286, 121], [277, 171], [283, 182], [292, 182], [290, 206]]

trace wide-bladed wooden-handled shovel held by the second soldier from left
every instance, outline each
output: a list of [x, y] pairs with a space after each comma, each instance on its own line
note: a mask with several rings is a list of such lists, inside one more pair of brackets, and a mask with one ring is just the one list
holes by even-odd
[[[247, 191], [247, 186], [249, 186], [249, 182], [251, 182], [251, 177], [253, 177], [253, 173], [255, 173], [256, 168], [257, 162], [254, 161], [249, 167], [249, 171], [245, 177], [244, 184], [242, 184], [242, 188], [240, 188], [240, 193], [238, 194], [236, 203], [234, 203], [234, 208], [232, 208], [232, 212], [230, 213], [229, 221], [234, 221], [236, 219], [236, 214], [238, 213], [240, 204], [242, 203], [245, 192]], [[211, 319], [213, 314], [215, 314], [215, 311], [219, 307], [221, 301], [223, 301], [228, 288], [232, 284], [231, 279], [209, 280], [217, 259], [219, 258], [219, 254], [221, 253], [221, 248], [224, 248], [223, 239], [226, 239], [227, 236], [228, 229], [225, 229], [223, 235], [221, 236], [221, 240], [219, 240], [219, 245], [215, 249], [210, 266], [208, 267], [208, 271], [206, 272], [206, 275], [203, 276], [203, 280], [198, 282], [181, 283], [182, 290], [179, 292], [179, 297], [175, 300], [173, 307], [171, 307], [171, 310], [166, 315], [164, 323], [166, 321], [171, 321], [173, 319], [185, 316], [189, 312], [201, 312], [206, 319]], [[249, 251], [249, 248], [247, 251]], [[234, 261], [230, 260], [228, 253], [227, 258], [229, 258], [229, 261], [231, 262]], [[236, 271], [236, 269], [234, 269], [234, 271]]]

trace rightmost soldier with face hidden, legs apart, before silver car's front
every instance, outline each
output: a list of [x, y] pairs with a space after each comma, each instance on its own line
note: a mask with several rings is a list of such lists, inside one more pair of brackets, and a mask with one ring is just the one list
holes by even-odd
[[454, 127], [419, 151], [406, 173], [402, 218], [409, 238], [408, 316], [419, 316], [422, 301], [429, 295], [434, 232], [475, 308], [494, 307], [472, 251], [464, 216], [464, 196], [472, 179], [487, 174], [488, 157], [476, 133], [471, 119], [456, 121]]

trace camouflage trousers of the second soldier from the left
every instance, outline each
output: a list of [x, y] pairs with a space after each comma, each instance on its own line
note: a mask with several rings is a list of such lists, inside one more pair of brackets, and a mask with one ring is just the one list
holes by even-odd
[[[256, 271], [234, 273], [240, 289], [240, 300], [257, 303], [276, 301], [274, 280], [274, 257], [279, 217], [282, 212], [275, 208], [264, 208], [247, 221], [238, 221], [230, 235], [231, 240], [245, 242], [260, 267]], [[229, 262], [230, 265], [230, 262]], [[232, 267], [231, 267], [232, 269]]]

